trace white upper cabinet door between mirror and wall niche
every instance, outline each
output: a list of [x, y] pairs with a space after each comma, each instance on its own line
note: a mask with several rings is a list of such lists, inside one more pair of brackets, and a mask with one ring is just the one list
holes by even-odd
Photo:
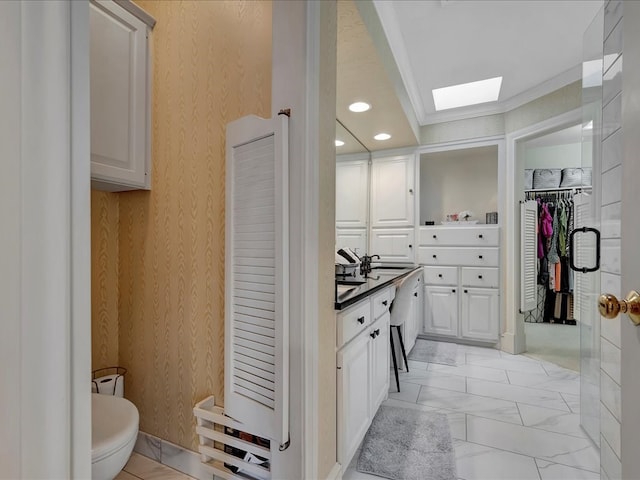
[[371, 226], [414, 225], [414, 156], [373, 160], [371, 167]]

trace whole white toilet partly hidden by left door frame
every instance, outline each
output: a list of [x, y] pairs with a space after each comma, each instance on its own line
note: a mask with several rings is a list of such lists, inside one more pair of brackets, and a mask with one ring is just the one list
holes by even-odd
[[126, 398], [91, 394], [91, 478], [113, 480], [138, 437], [138, 409]]

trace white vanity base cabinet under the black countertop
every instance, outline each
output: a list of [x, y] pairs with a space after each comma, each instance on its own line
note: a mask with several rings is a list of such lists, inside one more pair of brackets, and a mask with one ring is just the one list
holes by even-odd
[[389, 390], [386, 287], [337, 315], [338, 461], [348, 465]]

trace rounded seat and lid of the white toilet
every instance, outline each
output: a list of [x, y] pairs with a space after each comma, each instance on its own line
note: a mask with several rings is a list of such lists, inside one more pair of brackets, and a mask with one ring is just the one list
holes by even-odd
[[112, 455], [138, 434], [138, 409], [126, 398], [91, 394], [91, 463]]

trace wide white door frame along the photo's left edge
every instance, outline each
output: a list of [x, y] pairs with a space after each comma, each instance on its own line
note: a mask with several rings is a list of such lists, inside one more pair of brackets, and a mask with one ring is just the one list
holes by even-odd
[[11, 275], [1, 284], [10, 282], [11, 298], [2, 298], [0, 333], [2, 347], [11, 345], [0, 361], [12, 381], [3, 373], [11, 422], [0, 444], [11, 448], [0, 477], [90, 478], [88, 4], [3, 2], [0, 10], [0, 56], [11, 71], [0, 80], [9, 100], [0, 112], [9, 127], [0, 212], [12, 227], [0, 236]]

